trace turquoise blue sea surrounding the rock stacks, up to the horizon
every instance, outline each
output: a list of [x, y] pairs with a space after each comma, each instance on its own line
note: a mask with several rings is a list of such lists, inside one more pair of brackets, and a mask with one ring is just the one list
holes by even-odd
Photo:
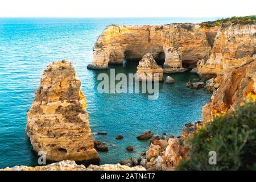
[[[43, 70], [52, 61], [71, 60], [82, 82], [94, 138], [106, 142], [108, 152], [99, 152], [101, 164], [138, 158], [148, 141], [135, 137], [146, 130], [155, 134], [181, 135], [187, 122], [201, 119], [201, 106], [209, 102], [204, 90], [185, 87], [191, 73], [172, 75], [175, 84], [160, 84], [159, 98], [147, 94], [100, 94], [97, 75], [86, 69], [93, 60], [93, 45], [108, 24], [167, 24], [202, 22], [217, 18], [0, 18], [0, 168], [37, 166], [38, 156], [27, 138], [26, 111], [34, 100]], [[138, 63], [110, 65], [115, 72], [135, 73]], [[166, 77], [167, 75], [164, 75]], [[125, 138], [116, 140], [117, 135]], [[127, 152], [126, 146], [134, 146]]]

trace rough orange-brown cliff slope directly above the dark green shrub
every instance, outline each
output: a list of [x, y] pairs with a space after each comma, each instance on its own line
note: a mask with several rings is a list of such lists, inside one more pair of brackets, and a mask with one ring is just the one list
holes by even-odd
[[242, 65], [240, 68], [215, 78], [220, 81], [220, 86], [213, 93], [209, 104], [203, 106], [203, 121], [212, 119], [222, 111], [236, 107], [249, 93], [256, 93], [256, 61]]

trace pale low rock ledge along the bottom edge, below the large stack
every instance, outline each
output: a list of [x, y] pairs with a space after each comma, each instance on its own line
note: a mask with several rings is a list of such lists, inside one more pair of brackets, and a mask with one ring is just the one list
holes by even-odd
[[87, 168], [84, 165], [77, 165], [75, 161], [63, 160], [58, 163], [52, 163], [46, 166], [15, 166], [0, 169], [0, 171], [146, 171], [142, 166], [128, 167], [120, 164], [90, 165]]

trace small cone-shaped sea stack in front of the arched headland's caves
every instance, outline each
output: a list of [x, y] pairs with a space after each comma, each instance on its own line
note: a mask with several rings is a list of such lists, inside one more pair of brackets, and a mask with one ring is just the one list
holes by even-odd
[[137, 67], [137, 76], [139, 81], [156, 80], [163, 81], [163, 69], [156, 64], [154, 57], [147, 53], [139, 61]]

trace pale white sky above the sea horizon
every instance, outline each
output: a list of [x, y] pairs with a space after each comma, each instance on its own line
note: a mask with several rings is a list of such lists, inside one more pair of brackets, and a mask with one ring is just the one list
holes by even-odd
[[228, 17], [255, 14], [255, 0], [0, 0], [0, 17]]

